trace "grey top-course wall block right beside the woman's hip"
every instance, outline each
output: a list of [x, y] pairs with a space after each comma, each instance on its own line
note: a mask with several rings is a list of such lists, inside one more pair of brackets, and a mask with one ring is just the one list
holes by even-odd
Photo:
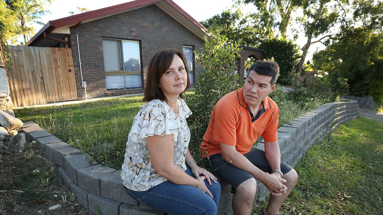
[[126, 193], [120, 175], [121, 170], [100, 178], [101, 196], [119, 202], [136, 205], [138, 202]]

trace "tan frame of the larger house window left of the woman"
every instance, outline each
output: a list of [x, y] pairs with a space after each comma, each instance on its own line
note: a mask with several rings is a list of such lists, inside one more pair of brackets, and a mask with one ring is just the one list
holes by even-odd
[[[121, 68], [122, 70], [115, 70], [115, 71], [106, 71], [105, 70], [105, 58], [104, 58], [104, 47], [103, 47], [103, 60], [104, 60], [104, 72], [105, 72], [105, 76], [106, 75], [124, 75], [124, 88], [123, 89], [111, 89], [111, 90], [128, 90], [128, 89], [140, 89], [140, 88], [143, 88], [143, 80], [142, 80], [142, 76], [143, 76], [143, 73], [142, 73], [142, 50], [141, 50], [141, 40], [134, 40], [134, 39], [120, 39], [120, 38], [112, 38], [112, 37], [101, 37], [101, 43], [102, 43], [102, 40], [116, 40], [116, 41], [119, 41], [119, 48], [120, 48], [120, 63], [121, 63]], [[141, 71], [125, 71], [125, 65], [124, 65], [124, 49], [123, 49], [123, 46], [122, 46], [122, 43], [123, 41], [136, 41], [138, 42], [138, 46], [139, 46], [139, 60], [140, 60], [140, 70]], [[126, 87], [126, 78], [125, 78], [125, 75], [141, 75], [141, 87], [137, 87], [137, 88], [127, 88]], [[106, 83], [106, 82], [105, 82]], [[111, 91], [111, 90], [108, 90], [106, 89], [107, 91]]]

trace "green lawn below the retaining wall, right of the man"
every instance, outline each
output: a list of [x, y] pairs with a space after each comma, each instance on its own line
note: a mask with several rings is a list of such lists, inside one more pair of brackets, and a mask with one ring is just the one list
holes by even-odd
[[[282, 214], [382, 214], [383, 123], [360, 117], [314, 145], [296, 165]], [[261, 202], [253, 214], [266, 207]]]

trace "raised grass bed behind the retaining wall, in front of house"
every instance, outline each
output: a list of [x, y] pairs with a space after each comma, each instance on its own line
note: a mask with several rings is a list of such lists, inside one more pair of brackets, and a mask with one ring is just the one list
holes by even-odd
[[[188, 91], [185, 101], [192, 96]], [[120, 97], [101, 101], [16, 109], [16, 117], [23, 122], [34, 121], [62, 141], [89, 154], [98, 163], [120, 169], [123, 163], [125, 144], [128, 140], [133, 118], [143, 104], [143, 96]], [[319, 102], [296, 104], [281, 100], [279, 124], [282, 125], [304, 112], [321, 105]], [[192, 109], [192, 107], [190, 107]], [[191, 155], [199, 161], [200, 142], [204, 131], [190, 125], [193, 137], [190, 143]]]

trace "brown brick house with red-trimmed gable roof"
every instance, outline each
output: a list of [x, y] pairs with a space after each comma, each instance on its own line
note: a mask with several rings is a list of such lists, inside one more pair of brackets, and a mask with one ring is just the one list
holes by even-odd
[[205, 34], [172, 0], [136, 0], [49, 21], [26, 46], [71, 48], [81, 100], [85, 92], [87, 98], [143, 92], [149, 60], [162, 49], [183, 50], [195, 80], [201, 65], [193, 50]]

